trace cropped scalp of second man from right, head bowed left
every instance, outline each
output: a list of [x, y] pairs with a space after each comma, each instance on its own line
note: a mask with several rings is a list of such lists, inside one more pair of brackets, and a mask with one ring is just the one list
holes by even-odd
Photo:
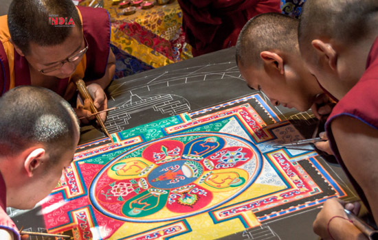
[[298, 20], [278, 13], [266, 13], [250, 19], [236, 43], [239, 67], [262, 67], [260, 52], [274, 49], [299, 55]]

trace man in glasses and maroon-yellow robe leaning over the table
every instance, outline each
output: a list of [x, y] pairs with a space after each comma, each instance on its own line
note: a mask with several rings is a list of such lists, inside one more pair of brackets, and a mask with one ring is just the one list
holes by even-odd
[[[15, 86], [43, 86], [72, 103], [74, 81], [83, 79], [98, 110], [106, 109], [104, 88], [115, 73], [110, 32], [102, 8], [76, 7], [71, 0], [12, 1], [8, 15], [0, 16], [0, 95]], [[91, 115], [79, 99], [75, 112]]]

